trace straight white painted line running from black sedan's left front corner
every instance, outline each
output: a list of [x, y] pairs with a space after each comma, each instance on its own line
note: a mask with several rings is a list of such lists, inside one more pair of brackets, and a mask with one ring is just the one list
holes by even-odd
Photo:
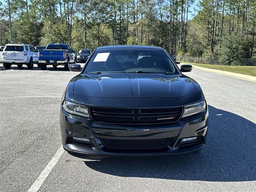
[[44, 168], [44, 170], [41, 172], [41, 174], [38, 176], [36, 181], [32, 184], [32, 186], [28, 189], [28, 192], [37, 192], [41, 185], [43, 184], [44, 180], [47, 178], [47, 176], [52, 171], [52, 168], [56, 165], [60, 157], [62, 156], [64, 152], [64, 149], [62, 145], [56, 152], [56, 154], [53, 156], [53, 158], [50, 160], [50, 162], [47, 164], [47, 166]]

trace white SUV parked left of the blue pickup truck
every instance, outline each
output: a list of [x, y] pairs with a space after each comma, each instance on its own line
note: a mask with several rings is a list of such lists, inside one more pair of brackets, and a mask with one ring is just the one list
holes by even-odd
[[10, 69], [13, 64], [18, 67], [22, 67], [25, 64], [28, 69], [32, 69], [34, 63], [38, 63], [38, 53], [31, 45], [7, 44], [2, 51], [2, 60], [6, 69]]

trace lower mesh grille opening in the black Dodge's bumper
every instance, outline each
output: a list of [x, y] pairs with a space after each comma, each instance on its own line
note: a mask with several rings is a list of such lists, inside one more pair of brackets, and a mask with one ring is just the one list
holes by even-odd
[[102, 139], [110, 149], [161, 149], [168, 145], [170, 138], [154, 140]]

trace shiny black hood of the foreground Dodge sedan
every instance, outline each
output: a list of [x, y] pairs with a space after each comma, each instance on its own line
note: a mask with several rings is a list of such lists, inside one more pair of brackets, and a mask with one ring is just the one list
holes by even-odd
[[170, 98], [195, 93], [196, 88], [183, 75], [92, 74], [74, 79], [73, 92], [86, 97]]

